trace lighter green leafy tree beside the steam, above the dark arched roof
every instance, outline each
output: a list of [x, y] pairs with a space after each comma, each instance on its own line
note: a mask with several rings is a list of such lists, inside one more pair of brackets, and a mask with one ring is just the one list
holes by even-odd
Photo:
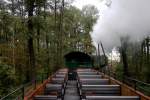
[[[64, 29], [67, 34], [66, 37], [68, 37], [67, 41], [70, 42], [68, 44], [70, 50], [80, 50], [86, 53], [93, 51], [90, 32], [97, 20], [97, 14], [98, 10], [91, 5], [85, 6], [83, 10], [79, 10], [74, 6], [70, 6], [65, 10]], [[71, 49], [74, 47], [75, 49]]]

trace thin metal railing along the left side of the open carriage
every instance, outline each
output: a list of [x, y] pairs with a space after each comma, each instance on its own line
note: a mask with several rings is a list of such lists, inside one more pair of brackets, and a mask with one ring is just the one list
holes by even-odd
[[48, 73], [41, 73], [35, 80], [28, 82], [26, 84], [21, 85], [20, 87], [13, 90], [11, 93], [6, 96], [0, 98], [0, 100], [23, 100], [27, 91], [35, 90], [38, 84], [44, 82], [45, 79], [48, 79]]

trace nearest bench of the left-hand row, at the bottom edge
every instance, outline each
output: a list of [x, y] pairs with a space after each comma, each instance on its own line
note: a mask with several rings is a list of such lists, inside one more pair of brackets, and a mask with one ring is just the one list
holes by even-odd
[[61, 100], [61, 99], [58, 99], [58, 97], [54, 95], [36, 95], [34, 97], [34, 100]]

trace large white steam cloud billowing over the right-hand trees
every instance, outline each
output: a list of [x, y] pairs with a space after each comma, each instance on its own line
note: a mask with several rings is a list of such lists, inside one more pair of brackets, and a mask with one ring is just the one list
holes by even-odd
[[140, 41], [150, 34], [150, 0], [105, 0], [100, 18], [91, 33], [109, 50], [120, 45], [120, 37]]

